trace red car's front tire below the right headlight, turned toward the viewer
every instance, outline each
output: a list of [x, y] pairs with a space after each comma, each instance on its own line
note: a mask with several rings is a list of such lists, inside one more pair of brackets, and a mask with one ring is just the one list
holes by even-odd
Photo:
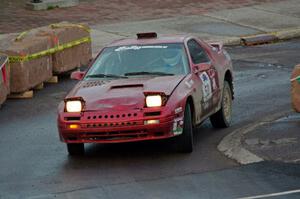
[[181, 153], [193, 152], [193, 125], [191, 107], [186, 105], [184, 111], [183, 132], [175, 137], [175, 150]]

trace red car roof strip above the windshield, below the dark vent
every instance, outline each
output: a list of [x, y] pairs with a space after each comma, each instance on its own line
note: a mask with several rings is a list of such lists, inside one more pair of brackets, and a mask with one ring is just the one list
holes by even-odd
[[128, 38], [120, 39], [112, 42], [108, 47], [125, 46], [125, 45], [147, 45], [147, 44], [162, 44], [162, 43], [184, 43], [185, 39], [190, 35], [158, 35], [153, 38]]

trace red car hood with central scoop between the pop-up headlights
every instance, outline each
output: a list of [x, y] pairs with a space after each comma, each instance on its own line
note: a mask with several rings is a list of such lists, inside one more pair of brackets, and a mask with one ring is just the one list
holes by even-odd
[[163, 92], [171, 95], [185, 75], [143, 77], [79, 82], [67, 98], [82, 97], [86, 111], [141, 109], [144, 92]]

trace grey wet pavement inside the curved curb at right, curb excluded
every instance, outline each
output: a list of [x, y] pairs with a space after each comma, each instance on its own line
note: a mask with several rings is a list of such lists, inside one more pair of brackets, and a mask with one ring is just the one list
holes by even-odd
[[267, 122], [242, 138], [243, 148], [264, 160], [300, 163], [300, 114]]

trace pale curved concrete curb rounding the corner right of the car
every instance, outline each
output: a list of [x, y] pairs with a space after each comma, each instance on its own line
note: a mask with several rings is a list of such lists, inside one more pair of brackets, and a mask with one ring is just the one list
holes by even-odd
[[230, 159], [237, 161], [239, 164], [250, 164], [255, 162], [264, 161], [263, 158], [257, 156], [256, 154], [250, 152], [249, 150], [243, 148], [242, 138], [253, 131], [254, 129], [291, 113], [291, 111], [281, 112], [274, 114], [272, 116], [266, 117], [261, 122], [252, 123], [246, 127], [234, 130], [229, 135], [225, 136], [221, 142], [218, 144], [218, 150]]

